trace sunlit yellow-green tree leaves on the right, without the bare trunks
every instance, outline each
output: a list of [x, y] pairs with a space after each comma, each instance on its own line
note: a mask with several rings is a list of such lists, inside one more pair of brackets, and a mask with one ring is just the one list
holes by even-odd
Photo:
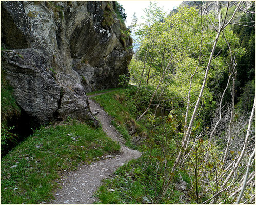
[[[235, 6], [229, 8], [227, 20], [231, 19], [235, 8]], [[226, 8], [223, 7], [222, 14], [225, 12]], [[168, 175], [163, 173], [168, 173], [169, 170], [166, 169], [164, 172], [161, 170], [161, 167], [163, 164], [168, 164], [169, 167], [173, 165], [173, 158], [170, 157], [171, 151], [169, 152], [169, 150], [174, 148], [173, 152], [175, 152], [175, 149], [181, 146], [180, 141], [183, 138], [188, 94], [189, 107], [187, 119], [189, 122], [202, 88], [205, 70], [216, 37], [216, 32], [212, 29], [211, 22], [218, 23], [218, 19], [212, 14], [203, 15], [201, 18], [199, 13], [199, 10], [195, 7], [180, 6], [176, 12], [164, 18], [163, 10], [157, 7], [156, 4], [151, 3], [145, 13], [145, 22], [136, 28], [135, 34], [140, 47], [131, 61], [129, 70], [131, 80], [140, 84], [141, 88], [133, 100], [137, 111], [139, 111], [138, 114], [142, 113], [152, 96], [152, 92], [147, 93], [150, 91], [146, 85], [150, 85], [152, 91], [155, 90], [157, 85], [160, 85], [159, 90], [162, 92], [157, 91], [151, 108], [148, 114], [144, 116], [144, 119], [142, 119], [142, 122], [148, 130], [152, 130], [152, 134], [147, 134], [145, 150], [151, 150], [152, 153], [157, 153], [159, 150], [162, 152], [158, 152], [153, 157], [153, 161], [160, 167], [156, 172], [163, 181], [166, 181], [168, 178]], [[235, 18], [238, 19], [241, 15], [241, 13], [238, 13]], [[241, 18], [241, 22], [250, 22], [250, 17], [254, 16], [247, 15], [246, 17], [244, 15]], [[253, 22], [250, 25], [253, 25]], [[216, 146], [216, 141], [214, 140], [210, 144], [208, 141], [209, 131], [207, 129], [215, 123], [216, 116], [213, 113], [218, 108], [217, 99], [220, 99], [226, 87], [227, 79], [231, 72], [233, 72], [231, 63], [237, 64], [238, 69], [236, 89], [240, 90], [240, 94], [238, 93], [239, 95], [237, 95], [235, 93], [235, 96], [240, 96], [244, 93], [238, 98], [240, 100], [238, 108], [243, 108], [249, 112], [253, 105], [255, 93], [255, 83], [253, 81], [255, 77], [255, 31], [254, 27], [238, 27], [237, 30], [234, 29], [233, 31], [232, 28], [235, 27], [226, 27], [218, 39], [202, 95], [200, 109], [198, 109], [199, 112], [193, 122], [190, 134], [190, 142], [193, 141], [193, 143], [191, 142], [193, 146], [190, 144], [188, 147], [187, 151], [191, 152], [186, 159], [187, 164], [184, 166], [184, 170], [182, 168], [177, 170], [178, 172], [187, 171], [184, 173], [184, 176], [186, 176], [184, 178], [191, 187], [190, 199], [192, 201], [198, 200], [198, 196], [195, 193], [200, 193], [199, 200], [202, 202], [212, 197], [211, 194], [216, 193], [220, 189], [218, 185], [214, 184], [211, 185], [214, 187], [214, 190], [212, 189], [210, 193], [204, 193], [206, 189], [204, 183], [206, 180], [202, 176], [206, 176], [206, 170], [210, 172], [207, 174], [208, 183], [208, 181], [214, 181], [216, 174], [223, 172], [220, 169], [220, 166], [222, 166], [220, 158], [223, 155], [223, 147]], [[230, 51], [223, 34], [230, 45], [232, 56], [235, 56], [234, 62], [231, 62]], [[242, 69], [242, 67], [244, 68]], [[168, 68], [168, 70], [163, 74], [165, 68]], [[190, 81], [191, 76], [193, 78]], [[242, 89], [240, 85], [245, 86], [245, 88]], [[135, 92], [133, 92], [133, 95], [135, 95]], [[231, 93], [228, 89], [222, 102], [223, 113], [228, 109], [230, 99]], [[159, 103], [162, 109], [161, 117], [157, 116], [157, 111], [154, 112], [155, 108], [153, 106], [157, 105], [157, 103]], [[228, 124], [228, 122], [224, 122], [221, 126], [225, 127], [225, 123]], [[210, 129], [212, 131], [213, 128]], [[216, 132], [218, 133], [219, 130]], [[224, 136], [225, 134], [227, 135], [224, 131]], [[202, 143], [197, 142], [195, 138], [198, 136], [203, 136], [205, 141]], [[208, 145], [211, 156], [206, 163], [203, 161], [203, 158], [205, 157]], [[152, 153], [147, 154], [148, 156], [153, 156]], [[156, 166], [156, 164], [154, 165]], [[195, 170], [197, 173], [195, 173]], [[177, 176], [175, 175], [175, 177]], [[175, 181], [175, 177], [172, 180]], [[189, 180], [190, 178], [191, 180]], [[198, 181], [196, 182], [196, 180]], [[209, 191], [208, 187], [207, 189]], [[222, 197], [223, 200], [225, 199], [225, 202], [228, 201], [226, 199], [227, 196], [227, 194], [224, 194]]]

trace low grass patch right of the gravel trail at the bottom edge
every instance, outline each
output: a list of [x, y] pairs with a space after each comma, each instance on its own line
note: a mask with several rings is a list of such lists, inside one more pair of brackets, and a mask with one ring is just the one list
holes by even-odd
[[[97, 190], [96, 196], [99, 198], [97, 203], [101, 204], [143, 204], [144, 197], [154, 199], [159, 191], [162, 178], [152, 172], [154, 167], [147, 163], [145, 158], [131, 160], [124, 166], [117, 169], [112, 178], [104, 179], [103, 185]], [[111, 192], [113, 189], [114, 192]], [[179, 203], [180, 191], [170, 189], [160, 203], [173, 204]], [[150, 200], [151, 201], [151, 200]]]

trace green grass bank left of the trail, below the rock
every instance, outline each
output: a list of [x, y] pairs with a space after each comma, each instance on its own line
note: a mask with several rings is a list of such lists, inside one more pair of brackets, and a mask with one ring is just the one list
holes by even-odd
[[63, 173], [119, 149], [100, 128], [75, 120], [35, 130], [1, 161], [1, 203], [48, 202]]

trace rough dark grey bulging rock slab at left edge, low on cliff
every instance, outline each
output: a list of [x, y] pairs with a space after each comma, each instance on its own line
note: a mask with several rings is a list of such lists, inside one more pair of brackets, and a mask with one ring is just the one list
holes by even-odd
[[44, 55], [36, 49], [2, 51], [1, 66], [14, 97], [30, 116], [45, 123], [58, 109], [61, 88], [44, 65]]

